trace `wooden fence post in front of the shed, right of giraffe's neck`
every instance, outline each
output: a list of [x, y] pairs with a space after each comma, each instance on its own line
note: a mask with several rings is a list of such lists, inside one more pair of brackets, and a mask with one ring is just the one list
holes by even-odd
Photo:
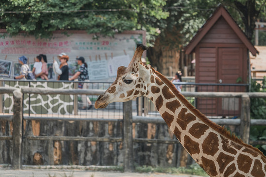
[[240, 135], [244, 143], [249, 143], [250, 132], [250, 99], [248, 94], [243, 94], [241, 97], [241, 121]]

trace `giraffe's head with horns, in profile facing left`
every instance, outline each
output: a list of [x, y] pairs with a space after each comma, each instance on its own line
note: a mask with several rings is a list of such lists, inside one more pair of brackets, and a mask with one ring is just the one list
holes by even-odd
[[147, 48], [138, 44], [128, 67], [120, 66], [114, 83], [99, 96], [95, 108], [105, 108], [113, 102], [125, 102], [147, 93], [150, 65], [141, 62], [142, 53]]

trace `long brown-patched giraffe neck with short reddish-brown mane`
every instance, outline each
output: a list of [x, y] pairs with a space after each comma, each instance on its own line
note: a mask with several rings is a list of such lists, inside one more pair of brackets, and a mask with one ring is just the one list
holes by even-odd
[[192, 158], [211, 177], [264, 177], [266, 157], [208, 120], [159, 72], [153, 70], [146, 97]]

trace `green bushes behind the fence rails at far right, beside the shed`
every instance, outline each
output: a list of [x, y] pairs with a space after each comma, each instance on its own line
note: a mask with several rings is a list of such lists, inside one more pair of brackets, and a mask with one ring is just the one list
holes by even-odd
[[[263, 82], [257, 83], [252, 80], [251, 91], [252, 92], [266, 92], [266, 77], [264, 77]], [[265, 98], [251, 98], [250, 99], [250, 116], [254, 119], [266, 119], [266, 99]], [[266, 126], [264, 125], [253, 125], [250, 128], [250, 139], [251, 140], [266, 140]], [[265, 145], [257, 145], [264, 154], [266, 154]]]

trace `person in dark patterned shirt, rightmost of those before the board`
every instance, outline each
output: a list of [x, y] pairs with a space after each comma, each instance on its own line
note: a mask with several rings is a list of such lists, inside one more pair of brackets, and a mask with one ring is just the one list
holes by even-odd
[[[83, 57], [79, 57], [76, 59], [79, 66], [78, 71], [69, 78], [69, 81], [73, 81], [78, 78], [79, 81], [89, 81], [89, 74], [88, 74], [88, 65], [85, 62], [85, 59]], [[88, 83], [78, 83], [78, 89], [87, 89]], [[91, 109], [92, 108], [92, 102], [90, 98], [87, 95], [82, 95], [82, 110]], [[87, 106], [89, 104], [89, 106]]]

